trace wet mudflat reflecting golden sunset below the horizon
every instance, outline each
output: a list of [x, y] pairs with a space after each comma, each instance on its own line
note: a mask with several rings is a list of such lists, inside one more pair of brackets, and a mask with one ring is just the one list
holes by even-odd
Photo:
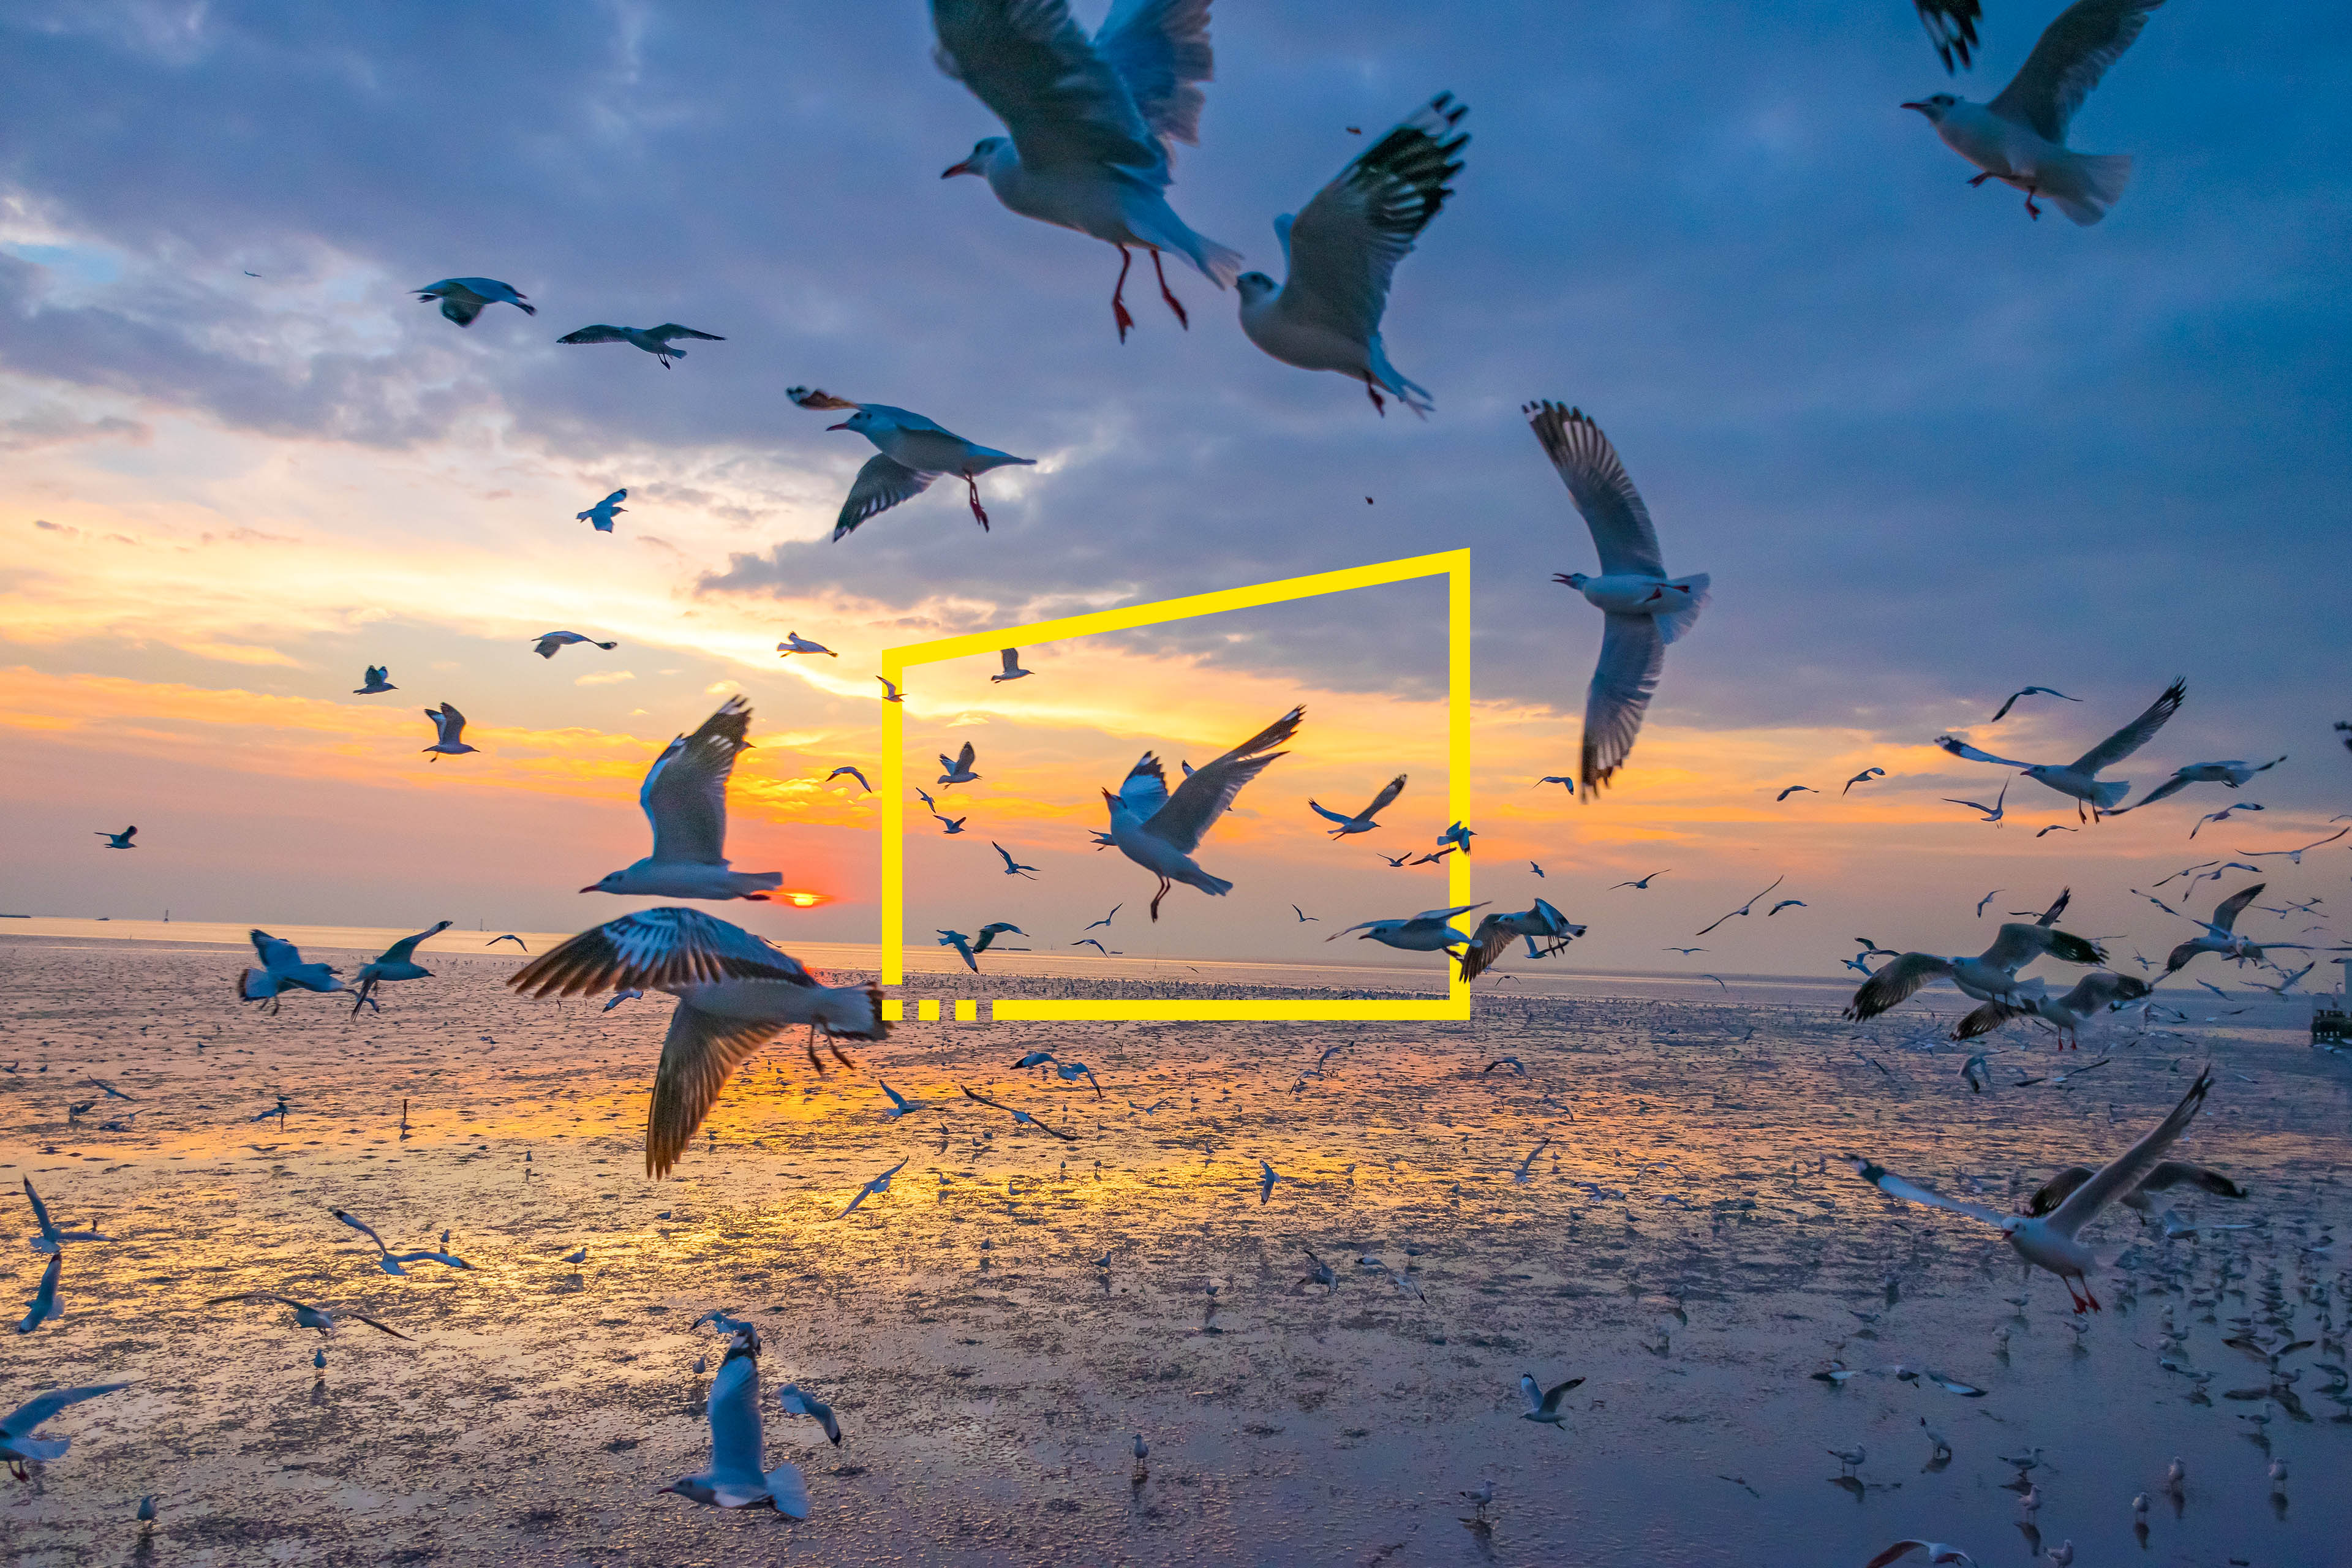
[[[2223, 1004], [2197, 992], [2187, 1041], [2110, 1023], [2079, 1058], [2112, 1041], [2110, 1065], [2065, 1086], [2009, 1088], [2077, 1065], [2011, 1030], [1983, 1095], [1917, 1009], [1844, 1025], [1844, 987], [1804, 980], [1529, 980], [1468, 1025], [908, 1023], [823, 1079], [779, 1041], [649, 1182], [668, 999], [522, 1001], [513, 957], [447, 952], [381, 1016], [308, 994], [266, 1016], [230, 999], [238, 961], [0, 933], [0, 1180], [31, 1173], [61, 1222], [118, 1237], [68, 1248], [61, 1321], [0, 1335], [0, 1403], [136, 1380], [45, 1427], [75, 1441], [33, 1486], [0, 1481], [9, 1561], [1860, 1563], [1926, 1535], [2023, 1563], [1997, 1455], [2034, 1446], [2039, 1544], [2074, 1540], [2084, 1566], [2324, 1563], [2352, 1537], [2352, 1420], [2319, 1394], [2345, 1262], [2303, 1251], [2352, 1218], [2352, 1063], [2305, 1044], [2307, 1004], [2206, 1023]], [[908, 994], [971, 987], [924, 973]], [[1089, 1063], [1105, 1098], [1011, 1072], [1025, 1048]], [[1526, 1077], [1486, 1072], [1501, 1053]], [[2065, 1288], [2020, 1286], [1987, 1229], [1818, 1171], [1851, 1150], [2006, 1206], [2013, 1180], [2122, 1150], [2206, 1053], [2216, 1093], [2180, 1152], [2253, 1197], [2159, 1208], [2253, 1227], [2166, 1244], [2110, 1211], [2093, 1237], [2131, 1267], [2098, 1281], [2082, 1342]], [[68, 1124], [92, 1074], [136, 1095], [134, 1131], [96, 1131], [120, 1100]], [[877, 1077], [934, 1110], [884, 1117]], [[285, 1124], [254, 1121], [278, 1093]], [[889, 1194], [835, 1218], [898, 1159]], [[1282, 1175], [1263, 1204], [1261, 1159]], [[393, 1246], [449, 1227], [475, 1269], [386, 1276], [336, 1206]], [[9, 1213], [14, 1302], [45, 1260], [21, 1197]], [[1301, 1284], [1303, 1248], [1334, 1291]], [[282, 1307], [202, 1305], [233, 1291], [416, 1342], [348, 1326], [315, 1371], [320, 1338]], [[804, 1523], [654, 1495], [708, 1458], [694, 1363], [722, 1340], [689, 1324], [713, 1307], [757, 1321], [769, 1401], [797, 1380], [842, 1418], [835, 1450], [769, 1403]], [[2166, 1307], [2211, 1403], [2159, 1366]], [[2300, 1418], [2225, 1399], [2265, 1382], [2223, 1345], [2232, 1316], [2319, 1340], [2281, 1363]], [[1811, 1380], [1825, 1356], [1990, 1394], [1886, 1371], [1837, 1389]], [[1562, 1429], [1517, 1420], [1522, 1371], [1585, 1378]], [[1825, 1448], [1856, 1443], [1846, 1483]], [[2176, 1453], [2178, 1512], [2157, 1490]], [[1479, 1528], [1458, 1490], [1484, 1479]]]

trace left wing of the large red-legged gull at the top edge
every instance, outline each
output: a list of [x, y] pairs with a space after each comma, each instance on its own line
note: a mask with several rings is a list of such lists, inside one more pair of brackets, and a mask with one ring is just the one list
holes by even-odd
[[[1120, 54], [1143, 56], [1141, 38], [1127, 38], [1122, 21], [1145, 28], [1150, 21], [1131, 14], [1103, 24]], [[938, 33], [931, 59], [1004, 122], [1025, 172], [1169, 183], [1167, 150], [1145, 125], [1134, 89], [1063, 0], [931, 0], [931, 26]], [[1178, 115], [1174, 96], [1183, 89], [1174, 66], [1164, 92], [1164, 113]]]

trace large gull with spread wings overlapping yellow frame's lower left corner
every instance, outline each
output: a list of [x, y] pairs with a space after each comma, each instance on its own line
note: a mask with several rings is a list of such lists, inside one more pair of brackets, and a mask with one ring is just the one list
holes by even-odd
[[[644, 1119], [644, 1173], [670, 1173], [727, 1074], [783, 1030], [807, 1025], [828, 1039], [884, 1039], [882, 990], [821, 985], [774, 943], [701, 910], [656, 907], [623, 914], [550, 947], [506, 980], [527, 997], [590, 997], [616, 985], [677, 997], [661, 1041], [654, 1100]], [[833, 1056], [842, 1063], [840, 1046]]]

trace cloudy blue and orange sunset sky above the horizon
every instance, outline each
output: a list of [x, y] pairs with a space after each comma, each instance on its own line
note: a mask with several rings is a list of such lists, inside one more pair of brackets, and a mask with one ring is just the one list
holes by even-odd
[[[14, 5], [0, 907], [609, 919], [635, 905], [574, 889], [644, 853], [635, 780], [741, 691], [757, 750], [729, 853], [826, 903], [729, 912], [786, 945], [866, 940], [875, 804], [823, 776], [875, 762], [884, 646], [1470, 548], [1477, 896], [1585, 922], [1569, 961], [1823, 973], [1853, 933], [1973, 950], [1985, 889], [2039, 907], [2063, 884], [2091, 933], [2152, 952], [2187, 929], [2129, 889], [2352, 806], [2331, 731], [2352, 719], [2352, 115], [2296, 89], [2343, 73], [2352, 21], [2159, 9], [2074, 120], [2074, 146], [2138, 160], [2112, 216], [2074, 228], [1971, 190], [1898, 108], [1992, 96], [2053, 12], [1994, 5], [1947, 82], [1898, 0], [1496, 0], [1475, 26], [1371, 0], [1345, 35], [1327, 5], [1218, 5], [1171, 202], [1256, 268], [1279, 275], [1272, 219], [1378, 129], [1439, 89], [1470, 106], [1456, 195], [1383, 322], [1435, 395], [1421, 421], [1261, 355], [1235, 296], [1183, 268], [1190, 329], [1145, 275], [1120, 343], [1112, 249], [941, 179], [1000, 127], [931, 66], [910, 0]], [[456, 329], [414, 299], [452, 275], [539, 315]], [[555, 343], [673, 320], [727, 341], [673, 369]], [[983, 480], [985, 534], [938, 484], [828, 543], [870, 447], [790, 386], [1037, 465]], [[1592, 543], [1519, 416], [1534, 397], [1592, 414], [1668, 567], [1715, 578], [1632, 762], [1585, 804], [1534, 785], [1573, 773], [1599, 646], [1599, 614], [1552, 583], [1595, 569]], [[614, 534], [574, 520], [619, 487]], [[619, 646], [532, 656], [555, 628]], [[781, 661], [786, 630], [840, 658]], [[369, 663], [400, 691], [353, 696]], [[964, 835], [910, 818], [917, 938], [1011, 919], [1063, 945], [1124, 903], [1129, 954], [1329, 957], [1336, 926], [1442, 903], [1435, 870], [1374, 858], [1446, 825], [1435, 585], [1023, 663], [1009, 686], [988, 661], [913, 684], [910, 759], [974, 741], [983, 773], [950, 792]], [[2006, 773], [1938, 733], [2070, 759], [2176, 675], [2187, 705], [2122, 776], [2288, 762], [2046, 837], [2074, 811], [2030, 780], [2002, 825], [1950, 804]], [[2082, 701], [1987, 726], [2025, 684]], [[477, 755], [421, 755], [440, 701]], [[1152, 882], [1094, 853], [1098, 788], [1294, 703], [1294, 752], [1202, 853], [1235, 893], [1134, 922]], [[1886, 776], [1839, 795], [1865, 766]], [[1397, 771], [1381, 830], [1322, 837], [1308, 797], [1352, 809]], [[1823, 795], [1776, 802], [1790, 783]], [[2265, 811], [2190, 842], [2230, 799]], [[134, 853], [92, 837], [125, 823]], [[2345, 844], [2253, 865], [2352, 903]], [[1804, 907], [1665, 952], [1778, 875]]]

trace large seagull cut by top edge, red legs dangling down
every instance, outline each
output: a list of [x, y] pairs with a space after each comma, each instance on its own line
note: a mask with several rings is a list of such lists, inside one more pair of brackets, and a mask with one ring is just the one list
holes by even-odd
[[1192, 233], [1167, 200], [1169, 143], [1200, 139], [1200, 82], [1214, 75], [1209, 2], [1120, 5], [1091, 40], [1065, 0], [931, 0], [931, 26], [938, 68], [1011, 132], [983, 136], [941, 179], [974, 174], [1011, 212], [1117, 247], [1110, 315], [1122, 343], [1136, 324], [1122, 299], [1131, 244], [1150, 252], [1160, 299], [1190, 327], [1160, 252], [1218, 289], [1242, 270], [1240, 254]]

